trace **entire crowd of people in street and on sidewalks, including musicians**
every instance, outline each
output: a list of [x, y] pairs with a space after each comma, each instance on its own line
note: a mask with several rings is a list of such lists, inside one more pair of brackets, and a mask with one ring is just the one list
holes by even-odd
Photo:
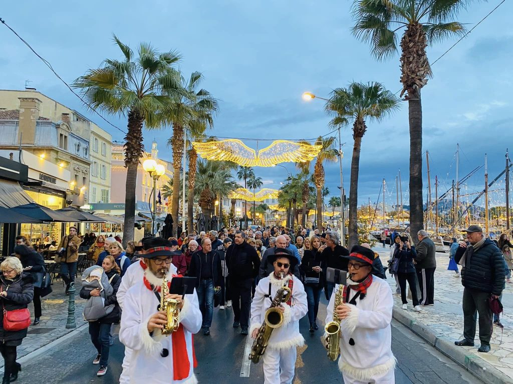
[[[70, 227], [57, 246], [66, 292], [75, 279], [78, 247], [84, 247], [76, 231]], [[486, 239], [476, 225], [466, 233], [467, 242], [455, 239], [450, 247], [450, 258], [462, 268], [461, 274], [459, 270], [456, 274], [464, 286], [464, 338], [455, 344], [473, 345], [478, 313], [479, 351], [488, 352], [492, 324], [488, 299], [500, 300], [505, 282], [510, 282], [513, 245], [507, 236], [501, 236], [498, 243]], [[388, 268], [397, 281], [396, 293], [401, 295], [403, 309], [408, 309], [408, 283], [413, 310], [421, 311], [422, 306], [435, 304], [436, 258], [428, 233], [421, 230], [417, 236], [417, 245], [407, 233], [394, 236]], [[305, 343], [299, 321], [307, 316], [309, 332], [319, 330], [317, 316], [323, 291], [329, 303], [326, 324], [344, 320], [340, 324], [339, 359], [344, 381], [394, 380], [392, 292], [384, 281], [379, 254], [369, 244], [348, 250], [341, 245], [337, 231], [303, 227], [295, 233], [286, 227], [182, 232], [179, 238], [130, 241], [126, 249], [121, 239], [114, 237], [99, 235], [92, 241], [89, 237], [89, 241], [87, 248], [94, 265], [82, 273], [80, 296], [87, 300], [83, 315], [97, 351], [92, 364], [98, 365], [98, 376], [108, 370], [112, 325], [120, 324], [119, 337], [125, 345], [121, 383], [142, 382], [150, 372], [156, 382], [160, 377], [164, 382], [169, 372], [173, 382], [196, 382], [192, 335], [200, 331], [210, 335], [214, 307], [231, 308], [233, 327], [240, 328], [243, 336], [258, 338], [274, 296], [287, 287], [290, 296], [277, 305], [283, 324], [271, 334], [263, 355], [266, 383], [292, 382], [295, 348]], [[0, 300], [4, 306], [0, 316], [6, 316], [5, 311], [24, 310], [33, 301], [33, 324], [37, 325], [42, 315], [44, 260], [22, 236], [16, 238], [15, 253], [16, 257], [0, 265]], [[328, 268], [344, 271], [344, 281], [329, 275]], [[194, 289], [185, 286], [183, 292], [160, 296], [163, 286], [169, 291], [173, 279], [182, 277], [194, 278]], [[171, 337], [163, 337], [170, 318], [159, 304], [168, 301], [180, 312], [176, 316], [180, 327]], [[498, 317], [494, 319], [497, 322]], [[4, 384], [17, 378], [21, 366], [16, 363], [16, 347], [27, 334], [26, 328], [8, 330], [5, 324], [0, 321], [0, 351], [6, 362]], [[352, 348], [354, 345], [358, 348]]]

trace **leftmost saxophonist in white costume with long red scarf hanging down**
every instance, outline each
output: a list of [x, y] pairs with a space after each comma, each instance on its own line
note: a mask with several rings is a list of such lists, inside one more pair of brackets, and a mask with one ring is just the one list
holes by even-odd
[[[163, 272], [168, 280], [172, 253], [170, 247], [147, 249], [143, 255], [144, 276], [128, 289], [123, 300], [120, 340], [132, 350], [128, 375], [131, 383], [195, 384], [193, 368], [196, 365], [192, 335], [201, 328], [202, 314], [198, 296], [168, 294], [167, 298], [179, 301], [180, 327], [169, 336], [161, 333], [167, 315], [159, 311], [160, 288]], [[169, 282], [168, 282], [169, 286]]]

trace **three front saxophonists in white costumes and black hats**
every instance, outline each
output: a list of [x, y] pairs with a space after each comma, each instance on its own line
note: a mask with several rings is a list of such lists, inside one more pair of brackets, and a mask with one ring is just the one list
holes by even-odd
[[[169, 321], [159, 307], [163, 278], [169, 276], [169, 287], [170, 281], [180, 276], [171, 263], [172, 251], [165, 239], [149, 239], [142, 248], [140, 262], [128, 268], [117, 293], [123, 309], [120, 340], [126, 347], [120, 383], [147, 382], [151, 377], [155, 384], [194, 384], [198, 380], [193, 370], [197, 364], [193, 334], [202, 327], [198, 296], [195, 290], [192, 294], [167, 294], [166, 298], [177, 302], [180, 326], [170, 335], [163, 335]], [[326, 324], [334, 318], [340, 321], [340, 333], [336, 335], [340, 337], [338, 365], [346, 384], [394, 383], [392, 292], [384, 280], [371, 274], [373, 260], [374, 253], [369, 248], [351, 249], [345, 259], [347, 281], [340, 286], [342, 301], [335, 307], [336, 295], [331, 295], [327, 308]], [[280, 325], [272, 329], [270, 336], [267, 334], [261, 351], [264, 383], [291, 384], [296, 348], [305, 343], [299, 321], [307, 313], [307, 296], [302, 282], [290, 272], [298, 259], [288, 249], [276, 248], [269, 262], [274, 270], [256, 288], [249, 333], [257, 339], [253, 346], [258, 344], [266, 313], [278, 291], [284, 288], [280, 292], [289, 294], [274, 309], [281, 317]], [[335, 290], [338, 289], [336, 286]]]

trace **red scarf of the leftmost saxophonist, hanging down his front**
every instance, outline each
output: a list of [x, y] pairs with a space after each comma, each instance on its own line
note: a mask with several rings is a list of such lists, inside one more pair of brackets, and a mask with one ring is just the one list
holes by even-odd
[[[148, 268], [147, 265], [141, 260], [140, 261], [141, 267], [143, 269]], [[171, 276], [172, 278], [181, 278], [182, 275], [175, 275], [173, 274]], [[153, 291], [152, 285], [148, 280], [146, 280], [146, 276], [144, 277], [144, 285], [146, 288], [148, 288], [150, 291]], [[167, 282], [168, 288], [171, 287], [171, 282]], [[160, 292], [161, 287], [156, 287], [156, 292]], [[187, 343], [185, 342], [185, 333], [184, 333], [184, 327], [182, 324], [180, 324], [180, 327], [176, 330], [176, 332], [173, 332], [171, 334], [172, 337], [172, 347], [173, 347], [173, 380], [183, 380], [189, 376], [190, 371], [190, 361], [189, 357], [187, 355]], [[198, 361], [196, 361], [196, 354], [194, 352], [194, 338], [191, 335], [191, 342], [192, 342], [192, 360], [193, 360], [193, 367], [198, 367]]]

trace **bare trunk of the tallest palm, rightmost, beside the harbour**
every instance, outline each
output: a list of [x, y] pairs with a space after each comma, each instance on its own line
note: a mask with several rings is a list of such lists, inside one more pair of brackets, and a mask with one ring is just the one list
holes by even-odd
[[[422, 103], [420, 91], [417, 95], [410, 95], [408, 100], [408, 115], [410, 125], [410, 227], [411, 233], [424, 228], [424, 214], [422, 209]], [[415, 100], [417, 99], [417, 100]], [[413, 236], [418, 243], [417, 236]]]

